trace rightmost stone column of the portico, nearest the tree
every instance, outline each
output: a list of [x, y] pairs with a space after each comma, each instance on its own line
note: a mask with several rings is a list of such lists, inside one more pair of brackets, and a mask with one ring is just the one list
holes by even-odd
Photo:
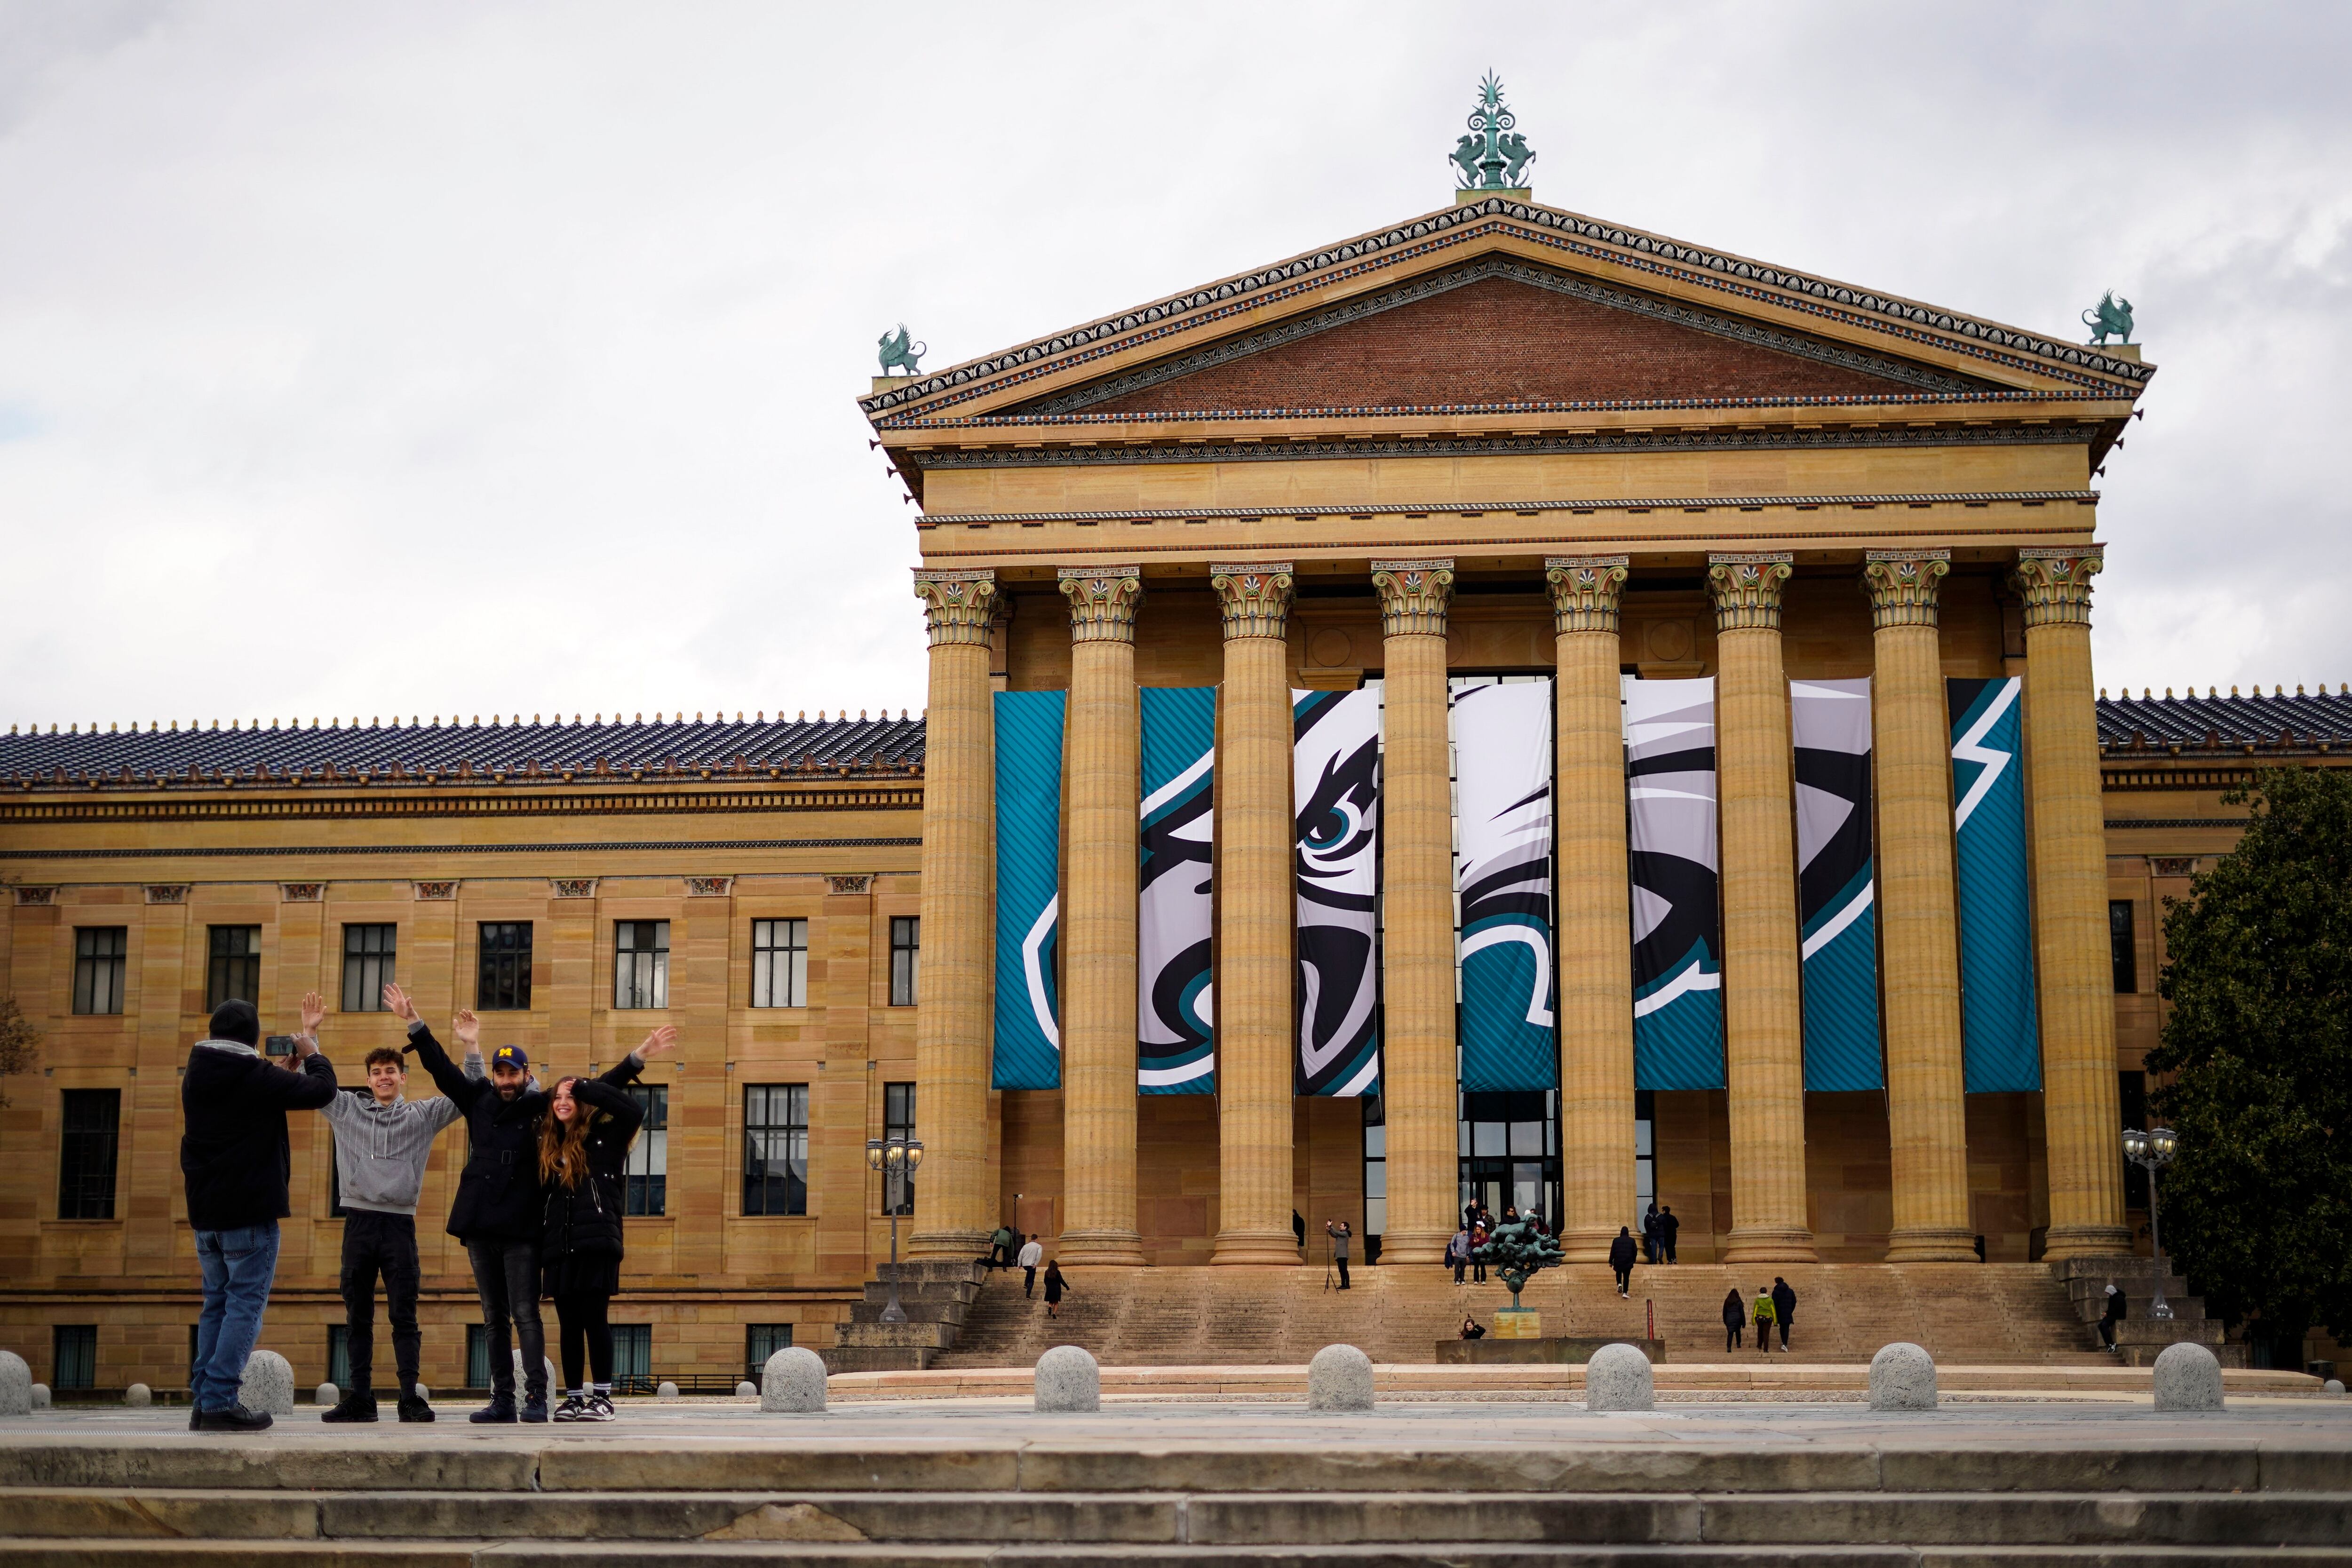
[[2049, 1126], [2051, 1258], [2131, 1251], [2117, 1152], [2114, 973], [2107, 832], [2091, 693], [2098, 545], [2018, 550], [2025, 595], [2025, 783], [2034, 823], [2034, 959], [2042, 978], [2042, 1107]]

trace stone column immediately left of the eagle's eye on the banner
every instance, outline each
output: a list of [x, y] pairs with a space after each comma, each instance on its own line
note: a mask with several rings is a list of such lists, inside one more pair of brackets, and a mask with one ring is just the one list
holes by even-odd
[[1298, 1262], [1291, 1234], [1291, 564], [1209, 567], [1225, 611], [1216, 827], [1218, 1229], [1211, 1262]]

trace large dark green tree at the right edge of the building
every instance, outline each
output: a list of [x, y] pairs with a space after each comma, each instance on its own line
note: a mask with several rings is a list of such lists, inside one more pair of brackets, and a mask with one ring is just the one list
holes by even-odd
[[2225, 1316], [2347, 1338], [2352, 771], [2265, 769], [2223, 802], [2253, 806], [2246, 837], [2164, 914], [2164, 1251]]

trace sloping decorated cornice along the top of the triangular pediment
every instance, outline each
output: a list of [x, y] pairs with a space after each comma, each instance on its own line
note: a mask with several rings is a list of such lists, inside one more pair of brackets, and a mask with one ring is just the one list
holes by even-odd
[[[2060, 376], [2077, 383], [2093, 383], [2093, 376], [2107, 376], [2129, 383], [2119, 388], [2126, 395], [2154, 374], [2152, 364], [2117, 360], [2082, 343], [2060, 343], [2013, 327], [1936, 310], [1919, 301], [1853, 289], [1851, 284], [1771, 268], [1745, 256], [1708, 252], [1635, 228], [1595, 223], [1573, 212], [1491, 197], [1468, 207], [1439, 209], [1256, 273], [1225, 277], [1188, 294], [1054, 334], [1051, 339], [1037, 339], [1000, 355], [957, 364], [936, 376], [910, 376], [906, 386], [861, 397], [858, 407], [868, 418], [880, 418], [889, 409], [915, 402], [931, 402], [931, 407], [964, 402], [1084, 360], [1141, 348], [1178, 331], [1195, 331], [1235, 315], [1258, 315], [1279, 299], [1430, 256], [1494, 230], [1508, 230], [1534, 244], [1588, 256], [1606, 266], [1649, 273], [1672, 284], [1696, 284], [1759, 306], [1844, 322], [2044, 376]], [[957, 395], [943, 397], [946, 393]]]

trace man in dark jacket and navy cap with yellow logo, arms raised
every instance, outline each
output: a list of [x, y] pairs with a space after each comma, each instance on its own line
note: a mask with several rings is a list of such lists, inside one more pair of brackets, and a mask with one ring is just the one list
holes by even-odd
[[[470, 1422], [543, 1422], [548, 1418], [548, 1333], [539, 1319], [539, 1121], [548, 1095], [532, 1084], [532, 1058], [522, 1046], [489, 1053], [489, 1077], [468, 1079], [416, 1006], [397, 985], [383, 987], [383, 1006], [409, 1025], [409, 1051], [433, 1074], [433, 1084], [459, 1103], [466, 1117], [466, 1171], [449, 1206], [449, 1234], [466, 1244], [473, 1286], [482, 1295], [482, 1335], [489, 1340], [489, 1403]], [[473, 1053], [482, 1025], [456, 1016], [456, 1039]], [[635, 1077], [628, 1058], [604, 1074], [607, 1084]], [[515, 1361], [508, 1326], [522, 1342], [522, 1408], [515, 1408]]]

